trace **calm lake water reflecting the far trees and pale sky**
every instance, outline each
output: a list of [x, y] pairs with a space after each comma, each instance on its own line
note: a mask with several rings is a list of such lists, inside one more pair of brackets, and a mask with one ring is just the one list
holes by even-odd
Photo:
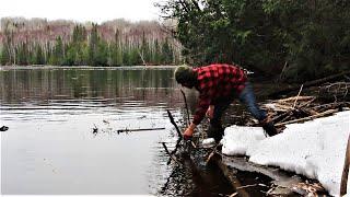
[[[172, 67], [2, 68], [0, 126], [10, 129], [0, 132], [1, 194], [233, 194], [221, 172], [206, 166], [200, 153], [194, 158], [199, 177], [189, 169], [167, 165], [162, 142], [173, 149], [177, 136], [166, 109], [179, 126], [187, 117], [173, 71]], [[196, 92], [185, 92], [192, 113]], [[241, 109], [235, 107], [226, 120], [244, 121]], [[144, 128], [160, 129], [117, 132]]]

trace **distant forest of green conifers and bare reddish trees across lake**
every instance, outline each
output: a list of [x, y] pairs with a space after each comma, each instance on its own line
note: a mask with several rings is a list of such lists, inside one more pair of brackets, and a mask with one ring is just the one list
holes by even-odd
[[1, 19], [0, 65], [176, 65], [179, 53], [158, 22]]

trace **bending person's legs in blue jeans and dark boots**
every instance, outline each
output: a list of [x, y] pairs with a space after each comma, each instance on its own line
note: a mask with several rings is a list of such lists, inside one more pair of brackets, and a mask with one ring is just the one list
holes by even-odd
[[[238, 95], [238, 99], [242, 103], [245, 104], [245, 106], [247, 107], [248, 112], [253, 115], [253, 117], [259, 120], [259, 123], [262, 123], [266, 119], [267, 117], [266, 112], [261, 111], [257, 106], [255, 95], [253, 92], [253, 86], [249, 82], [245, 83], [245, 88]], [[234, 100], [234, 96], [224, 97], [215, 101], [213, 118], [210, 119], [208, 137], [214, 138], [217, 142], [221, 140], [224, 131], [221, 125], [221, 116], [224, 113], [224, 111], [230, 106], [230, 104], [233, 102], [233, 100]], [[276, 135], [276, 129], [272, 123], [264, 124], [262, 128], [267, 131], [269, 136]]]

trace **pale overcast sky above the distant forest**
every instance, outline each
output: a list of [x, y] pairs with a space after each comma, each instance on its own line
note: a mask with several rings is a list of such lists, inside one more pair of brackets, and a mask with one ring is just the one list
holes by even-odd
[[159, 0], [1, 0], [0, 18], [23, 16], [79, 22], [159, 20]]

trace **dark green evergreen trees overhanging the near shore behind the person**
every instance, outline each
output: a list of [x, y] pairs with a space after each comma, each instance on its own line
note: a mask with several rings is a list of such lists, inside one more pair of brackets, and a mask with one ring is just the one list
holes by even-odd
[[305, 81], [350, 69], [349, 0], [166, 0], [192, 65], [234, 62]]

